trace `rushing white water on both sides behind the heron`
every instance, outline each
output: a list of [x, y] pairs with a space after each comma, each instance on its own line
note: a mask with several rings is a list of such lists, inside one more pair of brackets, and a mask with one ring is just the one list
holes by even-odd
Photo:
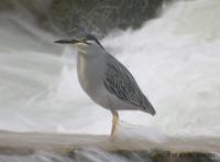
[[[139, 30], [101, 40], [157, 111], [154, 117], [121, 111], [122, 127], [125, 122], [134, 134], [147, 130], [154, 140], [219, 137], [219, 0], [179, 1]], [[32, 21], [2, 14], [0, 23], [0, 129], [108, 134], [111, 114], [79, 87], [76, 52], [54, 44], [57, 37]]]

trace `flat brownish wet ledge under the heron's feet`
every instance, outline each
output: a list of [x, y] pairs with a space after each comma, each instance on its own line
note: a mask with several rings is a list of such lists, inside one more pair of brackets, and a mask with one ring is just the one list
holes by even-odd
[[89, 134], [0, 132], [0, 161], [217, 162], [220, 139], [147, 139]]

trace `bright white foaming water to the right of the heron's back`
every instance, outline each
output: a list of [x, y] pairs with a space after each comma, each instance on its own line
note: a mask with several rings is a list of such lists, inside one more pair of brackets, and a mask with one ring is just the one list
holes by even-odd
[[103, 40], [157, 110], [154, 118], [124, 112], [124, 120], [169, 134], [219, 136], [219, 7], [215, 0], [178, 2], [140, 31]]

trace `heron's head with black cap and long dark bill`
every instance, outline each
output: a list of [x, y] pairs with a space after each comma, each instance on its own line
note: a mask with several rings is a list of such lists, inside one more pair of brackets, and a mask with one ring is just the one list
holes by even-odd
[[90, 34], [85, 34], [81, 36], [76, 36], [73, 39], [64, 39], [55, 41], [55, 43], [59, 44], [72, 44], [78, 52], [86, 53], [89, 50], [92, 48], [101, 48], [105, 50], [103, 46], [99, 43], [99, 41]]

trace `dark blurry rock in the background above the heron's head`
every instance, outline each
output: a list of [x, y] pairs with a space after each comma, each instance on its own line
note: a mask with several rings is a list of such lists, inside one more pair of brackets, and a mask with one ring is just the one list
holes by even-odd
[[114, 29], [140, 28], [158, 15], [172, 0], [0, 0], [0, 11], [34, 17], [38, 26], [55, 33], [94, 32], [103, 35]]

